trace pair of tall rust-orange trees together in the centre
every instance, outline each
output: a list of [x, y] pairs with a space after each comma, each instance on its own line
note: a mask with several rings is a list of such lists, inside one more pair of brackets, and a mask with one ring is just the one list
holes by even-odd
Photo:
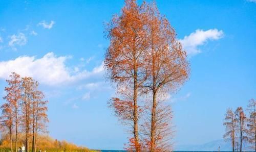
[[188, 79], [186, 52], [175, 29], [155, 4], [125, 0], [120, 15], [106, 24], [110, 45], [107, 78], [116, 88], [110, 100], [119, 120], [130, 126], [129, 151], [170, 151], [173, 112], [165, 103]]

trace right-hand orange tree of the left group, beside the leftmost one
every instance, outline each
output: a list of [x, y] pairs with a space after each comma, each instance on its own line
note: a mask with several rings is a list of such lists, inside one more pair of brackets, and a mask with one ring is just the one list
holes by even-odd
[[37, 81], [31, 77], [25, 77], [22, 80], [22, 129], [25, 131], [26, 151], [29, 149], [29, 139], [32, 136], [32, 151], [34, 152], [37, 133], [46, 131], [48, 101], [44, 100], [44, 94], [38, 90]]

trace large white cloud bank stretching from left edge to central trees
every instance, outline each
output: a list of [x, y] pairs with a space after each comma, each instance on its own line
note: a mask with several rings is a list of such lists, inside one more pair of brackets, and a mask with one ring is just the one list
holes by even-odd
[[58, 85], [93, 77], [104, 70], [103, 63], [92, 71], [73, 70], [65, 64], [69, 58], [69, 56], [56, 57], [53, 53], [48, 53], [39, 59], [35, 56], [21, 56], [14, 60], [0, 61], [0, 79], [8, 79], [8, 75], [14, 71], [22, 77], [33, 77], [42, 84]]

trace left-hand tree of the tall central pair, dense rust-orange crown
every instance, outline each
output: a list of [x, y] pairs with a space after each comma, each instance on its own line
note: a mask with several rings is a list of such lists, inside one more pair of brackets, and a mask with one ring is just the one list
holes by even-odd
[[[144, 72], [143, 55], [147, 50], [145, 13], [141, 10], [135, 0], [125, 0], [125, 6], [120, 16], [114, 16], [107, 24], [107, 36], [110, 39], [110, 46], [105, 54], [105, 68], [108, 71], [108, 78], [117, 86], [131, 86], [132, 99], [122, 100], [122, 104], [131, 104], [133, 136], [135, 150], [140, 151], [140, 140], [138, 133], [138, 93], [143, 81], [146, 78]], [[119, 87], [118, 87], [119, 88]], [[115, 99], [121, 101], [119, 99]], [[120, 104], [120, 103], [119, 103]], [[114, 106], [120, 107], [120, 106]], [[117, 110], [119, 111], [119, 110]], [[127, 111], [126, 111], [127, 112]]]

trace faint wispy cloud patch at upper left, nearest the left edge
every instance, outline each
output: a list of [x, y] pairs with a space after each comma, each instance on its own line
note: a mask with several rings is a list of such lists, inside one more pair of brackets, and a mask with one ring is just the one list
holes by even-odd
[[24, 33], [18, 33], [17, 35], [13, 34], [11, 36], [11, 40], [9, 41], [9, 46], [16, 49], [16, 45], [22, 46], [25, 45], [27, 42], [28, 41]]

